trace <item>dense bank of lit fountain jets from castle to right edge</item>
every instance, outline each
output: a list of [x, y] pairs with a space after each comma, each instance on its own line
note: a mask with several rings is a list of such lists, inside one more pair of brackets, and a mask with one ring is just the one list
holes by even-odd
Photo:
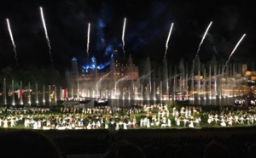
[[168, 99], [216, 99], [242, 96], [248, 93], [247, 78], [243, 76], [241, 64], [217, 64], [215, 57], [208, 65], [195, 59], [193, 71], [184, 65], [181, 59], [179, 65], [167, 65], [166, 57], [159, 70], [152, 69], [149, 58], [146, 59], [143, 75], [137, 80], [129, 80], [124, 76], [119, 79], [106, 80], [113, 71], [95, 82], [81, 82], [74, 87], [86, 98], [101, 99], [138, 99], [138, 100], [168, 100]]

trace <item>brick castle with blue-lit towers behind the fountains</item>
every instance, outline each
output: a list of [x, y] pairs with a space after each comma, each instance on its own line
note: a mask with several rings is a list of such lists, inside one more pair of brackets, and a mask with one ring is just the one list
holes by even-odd
[[69, 88], [95, 88], [96, 84], [102, 84], [104, 87], [114, 87], [116, 82], [122, 81], [122, 84], [131, 84], [139, 78], [138, 66], [134, 65], [131, 55], [126, 61], [120, 62], [113, 56], [108, 66], [97, 65], [96, 58], [90, 59], [90, 64], [80, 66], [77, 59], [72, 59], [72, 68], [68, 73]]

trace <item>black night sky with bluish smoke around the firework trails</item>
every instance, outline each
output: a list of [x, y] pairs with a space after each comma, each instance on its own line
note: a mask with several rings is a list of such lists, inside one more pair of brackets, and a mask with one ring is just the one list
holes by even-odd
[[[23, 1], [24, 2], [24, 1]], [[136, 59], [161, 62], [168, 42], [168, 64], [180, 59], [192, 63], [207, 25], [199, 56], [201, 61], [228, 59], [241, 36], [246, 33], [232, 61], [250, 62], [256, 57], [256, 4], [249, 0], [171, 1], [171, 0], [3, 0], [0, 2], [0, 66], [16, 65], [6, 18], [16, 46], [20, 66], [50, 66], [49, 46], [45, 38], [40, 7], [51, 46], [52, 63], [66, 69], [76, 57], [84, 65], [87, 57], [87, 29], [90, 23], [90, 58], [108, 63], [111, 54], [122, 51], [124, 18], [125, 54]]]

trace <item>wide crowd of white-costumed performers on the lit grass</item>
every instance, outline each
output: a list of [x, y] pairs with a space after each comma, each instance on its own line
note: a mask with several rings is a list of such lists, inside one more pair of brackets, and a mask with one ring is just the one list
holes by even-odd
[[[23, 125], [33, 129], [135, 129], [150, 127], [201, 127], [202, 119], [212, 126], [256, 124], [256, 107], [231, 109], [219, 106], [205, 112], [201, 106], [168, 107], [167, 104], [134, 104], [129, 108], [98, 106], [65, 108], [0, 108], [0, 127]], [[136, 115], [133, 115], [136, 114]], [[139, 116], [139, 117], [136, 117]], [[201, 118], [202, 117], [202, 118]]]

